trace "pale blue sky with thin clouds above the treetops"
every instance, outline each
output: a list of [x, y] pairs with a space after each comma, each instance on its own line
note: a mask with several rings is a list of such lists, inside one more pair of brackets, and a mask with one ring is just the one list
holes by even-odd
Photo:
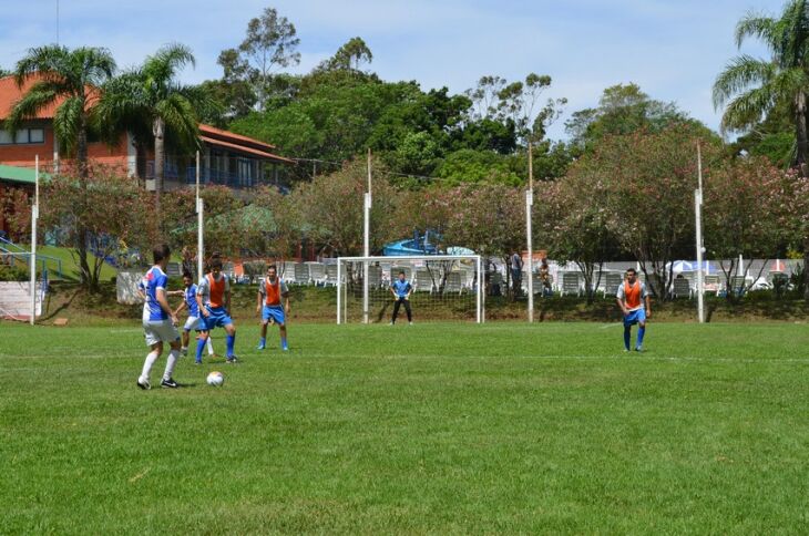
[[[597, 105], [603, 90], [635, 82], [718, 130], [716, 75], [739, 53], [736, 22], [778, 14], [786, 0], [0, 0], [0, 68], [31, 47], [105, 47], [119, 66], [139, 64], [170, 42], [193, 50], [186, 83], [222, 76], [219, 52], [237, 47], [249, 19], [273, 7], [300, 38], [308, 72], [346, 41], [362, 38], [383, 80], [460, 93], [482, 75], [509, 81], [549, 74], [547, 97], [566, 97], [550, 137], [564, 138], [571, 112]], [[57, 16], [59, 13], [59, 17]], [[765, 56], [755, 41], [743, 52]]]

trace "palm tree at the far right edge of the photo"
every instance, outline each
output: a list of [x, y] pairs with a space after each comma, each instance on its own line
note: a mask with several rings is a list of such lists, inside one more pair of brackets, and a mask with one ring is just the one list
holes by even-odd
[[780, 18], [748, 13], [736, 25], [736, 45], [747, 38], [764, 41], [769, 60], [741, 54], [730, 61], [714, 83], [714, 106], [725, 107], [723, 130], [744, 131], [777, 105], [787, 105], [795, 123], [793, 164], [809, 175], [807, 95], [809, 94], [809, 4], [788, 2]]

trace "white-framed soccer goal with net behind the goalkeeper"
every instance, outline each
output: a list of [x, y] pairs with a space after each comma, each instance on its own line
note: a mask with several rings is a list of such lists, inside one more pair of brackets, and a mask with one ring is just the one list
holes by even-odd
[[[337, 323], [388, 323], [396, 299], [391, 285], [404, 272], [412, 291], [413, 322], [483, 321], [479, 255], [340, 257], [337, 259]], [[407, 322], [403, 307], [399, 320]]]

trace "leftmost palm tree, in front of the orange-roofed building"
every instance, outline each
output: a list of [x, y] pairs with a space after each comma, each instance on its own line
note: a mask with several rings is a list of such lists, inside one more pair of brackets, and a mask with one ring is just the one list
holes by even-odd
[[[68, 154], [75, 154], [79, 179], [86, 187], [88, 178], [88, 130], [90, 128], [93, 101], [98, 89], [112, 76], [115, 61], [106, 49], [48, 45], [30, 49], [17, 63], [13, 75], [22, 89], [25, 82], [33, 84], [18, 101], [6, 127], [17, 131], [25, 120], [35, 117], [44, 107], [58, 103], [53, 115], [53, 133], [59, 145]], [[88, 231], [76, 229], [76, 251], [82, 285], [94, 289], [88, 262]]]

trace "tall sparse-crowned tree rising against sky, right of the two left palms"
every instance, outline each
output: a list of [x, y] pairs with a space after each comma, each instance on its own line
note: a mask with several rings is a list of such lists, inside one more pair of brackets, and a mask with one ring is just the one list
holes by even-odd
[[247, 34], [238, 49], [223, 51], [219, 60], [226, 75], [229, 68], [237, 80], [253, 85], [258, 110], [265, 110], [275, 71], [300, 63], [298, 44], [295, 24], [274, 8], [265, 8], [260, 17], [247, 23]]

